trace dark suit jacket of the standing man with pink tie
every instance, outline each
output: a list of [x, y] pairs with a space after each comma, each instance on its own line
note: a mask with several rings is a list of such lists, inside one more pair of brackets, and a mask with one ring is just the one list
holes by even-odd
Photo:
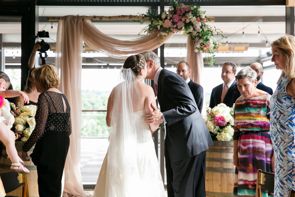
[[[221, 103], [222, 89], [223, 89], [223, 83], [213, 88], [211, 93], [211, 98], [210, 98], [210, 105], [209, 105], [210, 108], [213, 108], [216, 105]], [[234, 103], [240, 96], [241, 96], [241, 93], [238, 90], [237, 82], [234, 81], [234, 83], [231, 84], [228, 91], [226, 92], [226, 95], [223, 99], [223, 103], [226, 106], [231, 108], [232, 105], [234, 105]]]

